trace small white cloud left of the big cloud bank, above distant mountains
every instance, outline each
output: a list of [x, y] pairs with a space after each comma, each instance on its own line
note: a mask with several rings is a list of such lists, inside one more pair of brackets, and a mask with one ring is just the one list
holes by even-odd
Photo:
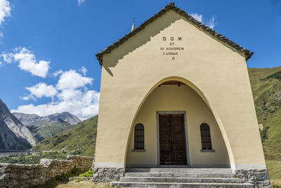
[[53, 85], [47, 85], [42, 82], [32, 87], [25, 87], [25, 89], [30, 91], [32, 96], [36, 96], [37, 98], [41, 98], [42, 96], [52, 97], [55, 96], [55, 94], [57, 94], [57, 89], [55, 89]]

